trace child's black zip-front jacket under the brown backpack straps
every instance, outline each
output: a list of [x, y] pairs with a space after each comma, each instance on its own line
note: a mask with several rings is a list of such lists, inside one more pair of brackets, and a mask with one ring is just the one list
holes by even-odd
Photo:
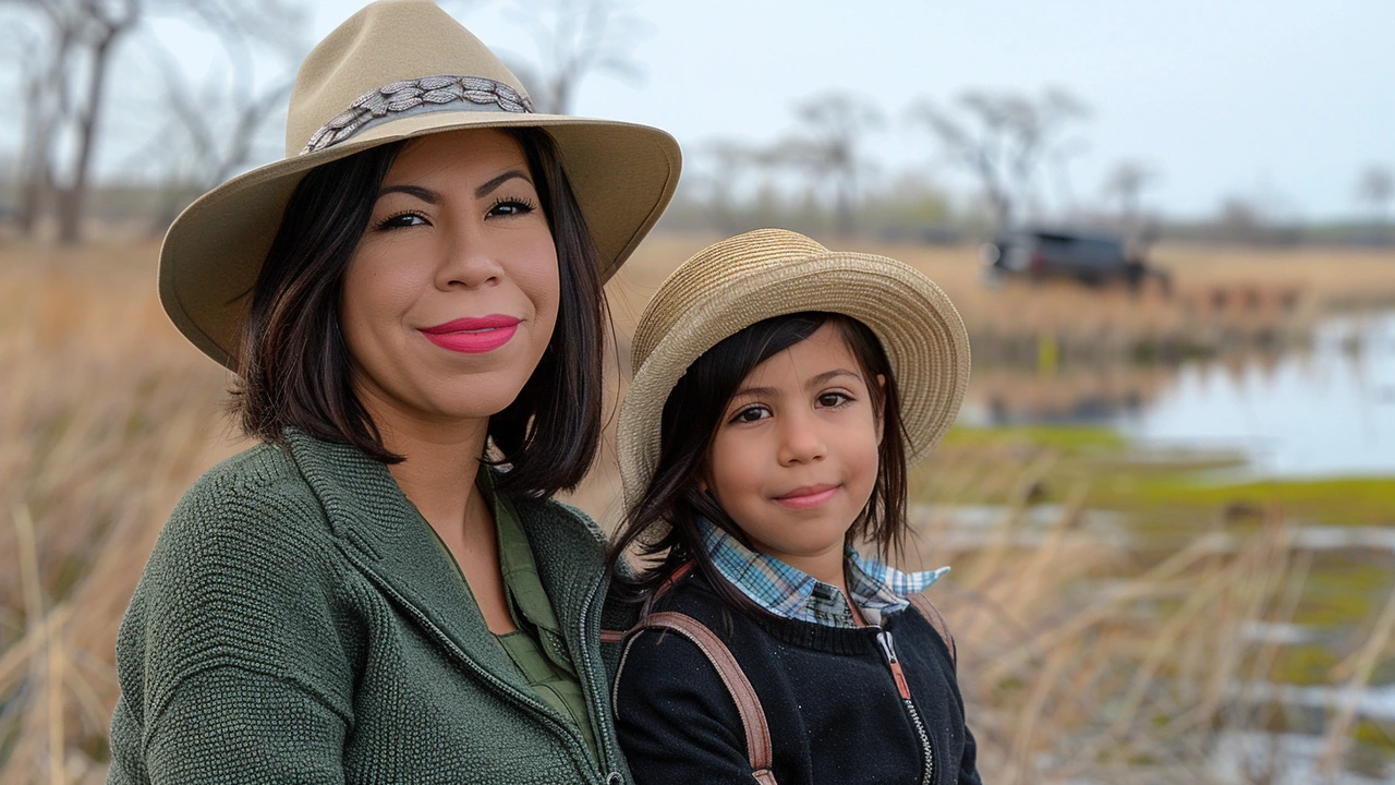
[[[914, 609], [889, 613], [882, 627], [859, 629], [752, 619], [725, 606], [695, 570], [654, 610], [698, 619], [731, 650], [764, 708], [771, 771], [780, 785], [922, 782], [921, 732], [877, 644], [880, 630], [894, 640], [933, 750], [928, 782], [979, 785], [954, 662], [939, 633]], [[614, 705], [638, 784], [755, 781], [737, 704], [684, 636], [632, 633]]]

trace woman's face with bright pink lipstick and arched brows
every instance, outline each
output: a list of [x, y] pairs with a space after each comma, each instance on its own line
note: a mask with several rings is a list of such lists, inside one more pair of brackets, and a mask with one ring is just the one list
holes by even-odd
[[557, 247], [519, 142], [465, 130], [405, 147], [340, 296], [354, 391], [379, 426], [508, 406], [558, 309]]

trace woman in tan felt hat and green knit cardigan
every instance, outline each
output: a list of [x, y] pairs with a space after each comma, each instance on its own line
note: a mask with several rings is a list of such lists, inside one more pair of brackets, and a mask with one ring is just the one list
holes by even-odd
[[547, 496], [596, 453], [600, 285], [677, 176], [661, 131], [533, 113], [434, 3], [315, 47], [287, 158], [162, 249], [170, 318], [264, 444], [151, 555], [109, 781], [628, 781], [604, 538]]

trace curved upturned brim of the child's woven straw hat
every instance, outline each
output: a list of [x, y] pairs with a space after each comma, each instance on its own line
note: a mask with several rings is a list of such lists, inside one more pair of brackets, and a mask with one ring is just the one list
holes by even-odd
[[830, 251], [741, 277], [678, 317], [635, 372], [617, 432], [625, 504], [643, 497], [660, 457], [664, 404], [698, 358], [764, 318], [831, 311], [868, 325], [896, 376], [907, 462], [928, 455], [954, 425], [968, 388], [964, 321], [925, 275], [896, 260]]

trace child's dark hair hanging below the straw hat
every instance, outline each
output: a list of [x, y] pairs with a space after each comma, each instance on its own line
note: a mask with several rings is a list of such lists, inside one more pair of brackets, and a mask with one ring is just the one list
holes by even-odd
[[[905, 538], [905, 429], [891, 365], [876, 335], [861, 321], [843, 314], [806, 311], [777, 316], [731, 335], [707, 349], [668, 392], [660, 426], [658, 465], [644, 496], [626, 514], [608, 559], [615, 596], [642, 602], [681, 564], [692, 560], [727, 605], [744, 613], [760, 609], [727, 582], [702, 543], [698, 518], [706, 518], [746, 548], [751, 541], [709, 493], [699, 489], [707, 474], [707, 448], [721, 425], [731, 397], [756, 366], [831, 324], [847, 342], [872, 392], [873, 412], [882, 422], [877, 476], [868, 506], [848, 529], [848, 542], [870, 542], [883, 559], [901, 550]], [[876, 377], [886, 379], [882, 395]], [[663, 531], [653, 538], [653, 531]], [[639, 546], [642, 566], [624, 568], [625, 552]]]

